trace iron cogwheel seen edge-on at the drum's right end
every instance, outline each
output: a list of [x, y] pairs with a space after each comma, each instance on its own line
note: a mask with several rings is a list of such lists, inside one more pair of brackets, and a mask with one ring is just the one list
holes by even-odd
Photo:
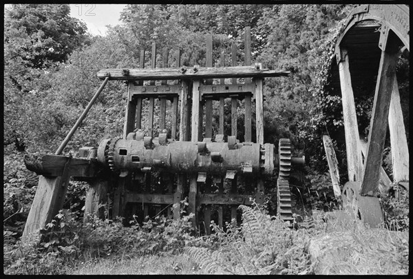
[[290, 178], [291, 143], [288, 138], [281, 138], [278, 145], [279, 175], [277, 180], [277, 211], [284, 221], [293, 221], [291, 211]]

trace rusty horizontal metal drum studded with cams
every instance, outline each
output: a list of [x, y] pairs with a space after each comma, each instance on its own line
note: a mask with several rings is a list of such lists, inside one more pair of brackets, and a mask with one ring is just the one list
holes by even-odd
[[[98, 161], [104, 164], [110, 161], [114, 169], [131, 172], [143, 168], [222, 175], [229, 170], [255, 175], [271, 175], [273, 172], [271, 167], [264, 167], [258, 143], [237, 143], [235, 149], [229, 149], [228, 143], [172, 141], [160, 145], [156, 139], [150, 144], [147, 138], [145, 140], [118, 139], [112, 145], [107, 140], [102, 141], [98, 148]], [[268, 149], [268, 152], [273, 152], [273, 149]]]

